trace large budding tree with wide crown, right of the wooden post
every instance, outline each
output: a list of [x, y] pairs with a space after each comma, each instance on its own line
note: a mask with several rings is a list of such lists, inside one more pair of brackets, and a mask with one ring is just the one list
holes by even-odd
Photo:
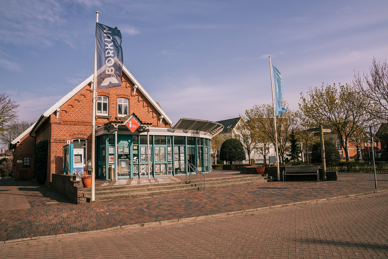
[[340, 85], [338, 91], [333, 86], [322, 84], [321, 88], [310, 88], [307, 97], [300, 93], [299, 107], [303, 114], [316, 125], [330, 127], [337, 134], [342, 148], [345, 150], [346, 162], [349, 162], [348, 139], [355, 130], [369, 121], [368, 114], [359, 106], [368, 106], [369, 100], [360, 91], [348, 84]]

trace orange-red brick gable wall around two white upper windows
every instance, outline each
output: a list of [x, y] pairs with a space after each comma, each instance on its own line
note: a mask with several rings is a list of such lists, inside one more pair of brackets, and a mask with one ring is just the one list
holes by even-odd
[[[97, 95], [109, 98], [108, 115], [96, 115], [96, 127], [109, 121], [120, 120], [118, 116], [117, 99], [125, 97], [129, 100], [128, 114], [135, 113], [143, 123], [152, 123], [153, 127], [171, 127], [163, 118], [159, 123], [158, 110], [140, 92], [139, 89], [133, 94], [134, 83], [123, 73], [121, 87], [97, 90]], [[83, 87], [56, 111], [36, 131], [36, 143], [48, 140], [49, 157], [47, 164], [46, 185], [52, 181], [51, 174], [63, 174], [62, 146], [67, 140], [75, 138], [87, 139], [87, 160], [91, 159], [92, 141], [92, 96], [93, 90], [90, 83]]]

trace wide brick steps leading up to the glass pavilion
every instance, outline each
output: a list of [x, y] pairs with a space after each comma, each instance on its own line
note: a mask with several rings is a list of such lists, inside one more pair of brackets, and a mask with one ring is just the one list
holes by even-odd
[[[270, 176], [263, 175], [241, 175], [233, 177], [220, 177], [206, 179], [206, 189], [217, 189], [240, 185], [249, 185], [273, 181]], [[204, 183], [203, 183], [204, 188]], [[177, 181], [168, 183], [125, 185], [117, 187], [95, 188], [95, 200], [114, 200], [122, 198], [139, 198], [147, 196], [166, 195], [172, 193], [184, 193], [201, 190], [201, 179]], [[90, 200], [91, 189], [83, 189], [84, 198]]]

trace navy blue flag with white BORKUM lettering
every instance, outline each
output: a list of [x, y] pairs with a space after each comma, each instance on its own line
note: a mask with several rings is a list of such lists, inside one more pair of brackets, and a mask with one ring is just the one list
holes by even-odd
[[97, 89], [121, 86], [123, 49], [120, 30], [96, 23], [96, 48]]

